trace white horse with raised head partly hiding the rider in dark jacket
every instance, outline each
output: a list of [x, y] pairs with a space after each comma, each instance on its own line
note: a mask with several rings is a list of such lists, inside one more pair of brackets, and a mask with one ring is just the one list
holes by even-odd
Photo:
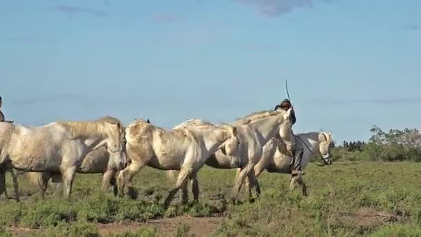
[[[213, 153], [211, 157], [206, 160], [205, 164], [214, 168], [240, 168], [233, 186], [231, 202], [238, 200], [238, 193], [240, 192], [240, 188], [246, 177], [249, 177], [251, 182], [258, 182], [254, 175], [253, 167], [260, 160], [263, 146], [265, 146], [267, 141], [275, 136], [282, 137], [285, 144], [287, 144], [287, 150], [291, 152], [294, 138], [291, 130], [292, 123], [289, 119], [290, 115], [291, 109], [286, 112], [285, 110], [277, 109], [275, 111], [256, 112], [245, 116], [242, 119], [238, 119], [233, 125], [237, 128], [237, 138], [240, 142], [238, 143], [237, 140], [233, 139], [226, 141], [221, 150], [217, 150], [217, 152]], [[203, 124], [201, 120], [194, 119], [186, 121], [175, 128], [194, 128], [201, 124]], [[228, 149], [227, 146], [229, 146]], [[169, 173], [169, 175], [172, 174]], [[199, 195], [197, 177], [192, 176], [191, 178], [193, 195], [195, 195], [195, 200], [197, 200], [196, 196]], [[259, 185], [256, 184], [254, 187], [256, 187], [257, 195], [260, 195]], [[186, 194], [188, 191], [185, 189], [183, 190], [183, 194], [184, 193]]]

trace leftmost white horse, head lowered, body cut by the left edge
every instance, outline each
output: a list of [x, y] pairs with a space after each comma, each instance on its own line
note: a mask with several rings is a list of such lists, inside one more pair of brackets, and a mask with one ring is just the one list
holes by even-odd
[[5, 188], [5, 171], [15, 168], [49, 173], [46, 177], [60, 174], [64, 198], [69, 199], [78, 166], [88, 152], [102, 146], [112, 163], [126, 166], [125, 131], [118, 119], [57, 121], [33, 128], [0, 123], [0, 191]]

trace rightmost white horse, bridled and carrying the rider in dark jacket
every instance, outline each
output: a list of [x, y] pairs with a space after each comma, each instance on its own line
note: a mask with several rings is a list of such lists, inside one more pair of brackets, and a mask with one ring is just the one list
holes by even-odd
[[[301, 169], [304, 170], [310, 159], [319, 153], [322, 157], [324, 165], [332, 164], [330, 157], [330, 148], [332, 147], [332, 133], [331, 132], [308, 132], [296, 135], [296, 142], [304, 149], [303, 159], [301, 159]], [[291, 164], [293, 157], [285, 151], [285, 144], [279, 137], [271, 139], [263, 148], [262, 158], [254, 166], [254, 173], [256, 177], [267, 170], [269, 173], [291, 173]], [[247, 180], [246, 186], [249, 189], [250, 180]], [[292, 177], [289, 184], [290, 191], [298, 186], [303, 195], [307, 196], [307, 186], [303, 181], [302, 175]]]

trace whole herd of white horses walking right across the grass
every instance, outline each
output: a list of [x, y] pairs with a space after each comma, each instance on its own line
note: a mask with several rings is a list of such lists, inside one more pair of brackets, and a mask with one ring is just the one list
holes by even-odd
[[[304, 148], [301, 166], [319, 153], [325, 165], [332, 164], [330, 132], [292, 133], [291, 109], [255, 112], [230, 124], [214, 124], [191, 119], [165, 130], [149, 121], [135, 119], [127, 127], [107, 116], [93, 121], [56, 121], [38, 127], [0, 122], [0, 195], [6, 191], [6, 172], [12, 175], [16, 200], [19, 188], [15, 170], [28, 175], [45, 198], [48, 182], [62, 184], [69, 199], [75, 173], [102, 173], [102, 189], [112, 186], [114, 195], [123, 196], [143, 166], [178, 172], [177, 182], [165, 199], [168, 208], [181, 189], [181, 202], [188, 202], [188, 184], [194, 200], [199, 200], [197, 172], [203, 166], [237, 169], [231, 201], [238, 200], [244, 185], [260, 195], [258, 175], [290, 173], [292, 148]], [[290, 182], [307, 195], [303, 177]]]

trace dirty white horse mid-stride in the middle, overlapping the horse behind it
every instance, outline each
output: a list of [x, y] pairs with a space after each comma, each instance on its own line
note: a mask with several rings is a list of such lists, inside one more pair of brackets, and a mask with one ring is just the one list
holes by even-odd
[[131, 164], [118, 175], [118, 193], [125, 193], [125, 186], [143, 166], [160, 170], [180, 170], [177, 184], [165, 199], [165, 209], [181, 186], [187, 182], [188, 177], [197, 173], [222, 143], [237, 135], [236, 128], [232, 125], [212, 128], [197, 126], [167, 131], [142, 119], [131, 123], [126, 132], [127, 155]]

